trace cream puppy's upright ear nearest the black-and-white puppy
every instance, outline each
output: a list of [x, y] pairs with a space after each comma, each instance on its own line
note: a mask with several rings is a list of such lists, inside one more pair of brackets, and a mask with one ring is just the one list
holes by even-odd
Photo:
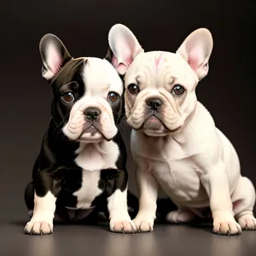
[[108, 57], [120, 75], [124, 75], [135, 57], [144, 51], [131, 30], [122, 24], [111, 27], [108, 44]]

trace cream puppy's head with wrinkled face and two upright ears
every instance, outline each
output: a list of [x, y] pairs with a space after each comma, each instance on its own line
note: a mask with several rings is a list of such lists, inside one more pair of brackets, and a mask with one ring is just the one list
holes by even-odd
[[160, 137], [180, 131], [195, 111], [195, 87], [208, 73], [212, 35], [192, 32], [176, 53], [144, 52], [126, 26], [108, 34], [112, 63], [125, 75], [125, 114], [135, 130]]

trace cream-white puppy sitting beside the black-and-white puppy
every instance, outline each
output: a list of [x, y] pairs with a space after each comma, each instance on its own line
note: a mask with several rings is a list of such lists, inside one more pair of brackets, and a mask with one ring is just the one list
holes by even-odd
[[204, 218], [209, 208], [214, 233], [255, 230], [253, 183], [241, 176], [235, 148], [195, 94], [208, 73], [211, 33], [195, 30], [176, 53], [144, 52], [120, 24], [108, 39], [113, 66], [125, 75], [125, 112], [137, 166], [137, 228], [153, 230], [160, 186], [178, 207], [166, 217], [171, 223]]

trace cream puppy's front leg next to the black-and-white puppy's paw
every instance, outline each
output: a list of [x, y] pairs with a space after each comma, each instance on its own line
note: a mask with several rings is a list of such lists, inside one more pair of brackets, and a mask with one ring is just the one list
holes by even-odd
[[158, 183], [152, 172], [145, 170], [143, 166], [137, 167], [137, 188], [139, 197], [139, 211], [133, 220], [139, 232], [153, 231], [156, 218], [156, 201]]

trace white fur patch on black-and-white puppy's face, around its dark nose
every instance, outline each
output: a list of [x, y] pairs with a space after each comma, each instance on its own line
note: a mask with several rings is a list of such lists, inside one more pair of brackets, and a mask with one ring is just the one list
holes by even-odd
[[[101, 75], [99, 75], [99, 70], [101, 70]], [[69, 120], [63, 127], [63, 132], [71, 140], [87, 143], [100, 142], [104, 140], [104, 137], [112, 139], [118, 130], [114, 124], [113, 113], [107, 102], [107, 96], [110, 91], [121, 96], [124, 92], [123, 82], [108, 61], [93, 57], [87, 58], [82, 74], [86, 87], [85, 94], [73, 105]], [[102, 111], [100, 115], [102, 131], [100, 132], [104, 137], [100, 132], [96, 133], [95, 137], [84, 132], [84, 125], [86, 125], [84, 110], [88, 107], [99, 108]]]

